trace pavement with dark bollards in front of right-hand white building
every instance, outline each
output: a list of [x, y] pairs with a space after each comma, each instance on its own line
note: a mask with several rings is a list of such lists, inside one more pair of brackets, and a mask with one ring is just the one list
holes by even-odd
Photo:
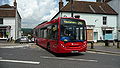
[[109, 46], [105, 46], [104, 43], [94, 43], [93, 49], [91, 49], [91, 44], [88, 44], [88, 51], [120, 55], [120, 48], [117, 48], [117, 43], [115, 45], [109, 43]]

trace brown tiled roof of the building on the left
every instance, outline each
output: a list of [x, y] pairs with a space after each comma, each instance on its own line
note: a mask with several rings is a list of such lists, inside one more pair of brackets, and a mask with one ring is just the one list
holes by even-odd
[[0, 17], [15, 17], [15, 9], [8, 4], [0, 6]]

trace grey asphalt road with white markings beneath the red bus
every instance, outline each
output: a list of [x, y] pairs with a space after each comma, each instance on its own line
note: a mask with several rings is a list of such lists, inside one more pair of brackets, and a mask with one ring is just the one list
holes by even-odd
[[55, 55], [31, 45], [0, 48], [0, 68], [120, 68], [120, 55], [87, 51]]

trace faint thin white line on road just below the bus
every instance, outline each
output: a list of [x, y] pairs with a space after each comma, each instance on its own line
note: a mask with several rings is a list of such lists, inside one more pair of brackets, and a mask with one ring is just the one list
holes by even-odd
[[70, 60], [70, 61], [98, 62], [97, 60], [75, 59], [75, 58], [59, 58], [59, 57], [47, 57], [47, 56], [41, 56], [41, 58], [44, 58], [44, 59], [58, 59], [58, 60]]

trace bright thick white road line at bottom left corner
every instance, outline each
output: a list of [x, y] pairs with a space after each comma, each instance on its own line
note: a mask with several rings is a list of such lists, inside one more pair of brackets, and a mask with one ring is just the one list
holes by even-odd
[[34, 61], [5, 60], [5, 59], [0, 59], [0, 62], [13, 62], [13, 63], [25, 63], [25, 64], [40, 64], [40, 62], [34, 62]]

